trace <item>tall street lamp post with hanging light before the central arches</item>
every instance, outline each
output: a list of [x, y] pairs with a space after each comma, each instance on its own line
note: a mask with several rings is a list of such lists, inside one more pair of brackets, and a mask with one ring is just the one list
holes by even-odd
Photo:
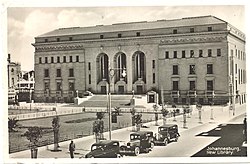
[[114, 77], [115, 75], [115, 71], [117, 70], [122, 70], [122, 77], [125, 77], [127, 74], [126, 74], [126, 68], [110, 68], [109, 69], [109, 86], [108, 86], [108, 89], [107, 89], [107, 93], [108, 93], [108, 113], [109, 113], [109, 140], [111, 140], [111, 131], [112, 131], [112, 111], [111, 111], [111, 91], [110, 91], [110, 85], [111, 85], [111, 80], [112, 78]]

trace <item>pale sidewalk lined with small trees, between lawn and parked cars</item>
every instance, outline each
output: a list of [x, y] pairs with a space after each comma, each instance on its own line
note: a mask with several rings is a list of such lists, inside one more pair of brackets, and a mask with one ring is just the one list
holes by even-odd
[[[183, 116], [182, 115], [176, 117], [176, 120], [177, 120], [176, 122], [173, 121], [173, 118], [168, 118], [167, 123], [178, 124], [180, 134], [183, 132], [188, 132], [188, 130], [198, 127], [198, 126], [202, 126], [204, 124], [209, 124], [210, 125], [209, 128], [216, 127], [219, 124], [226, 123], [230, 119], [246, 113], [246, 105], [243, 104], [240, 106], [236, 106], [236, 111], [235, 111], [234, 116], [233, 116], [233, 112], [229, 111], [228, 106], [226, 107], [213, 106], [212, 111], [213, 111], [212, 117], [214, 118], [213, 120], [211, 119], [210, 106], [203, 107], [202, 117], [201, 117], [202, 123], [199, 123], [198, 110], [195, 109], [192, 112], [192, 114], [190, 114], [190, 118], [187, 117], [187, 123], [186, 123], [187, 128], [183, 128]], [[162, 120], [159, 120], [158, 124], [162, 125]], [[142, 128], [141, 130], [151, 130], [151, 131], [154, 131], [154, 133], [157, 132], [158, 126], [155, 126], [155, 121], [145, 123], [144, 125], [148, 126], [149, 128]], [[114, 130], [112, 131], [112, 139], [119, 140], [119, 141], [126, 143], [129, 141], [129, 134], [131, 130], [132, 130], [132, 127]], [[104, 137], [108, 138], [108, 132], [104, 133]], [[75, 158], [80, 158], [80, 157], [84, 157], [84, 155], [90, 151], [91, 145], [95, 143], [95, 138], [92, 135], [92, 136], [75, 139], [74, 142], [76, 145]], [[70, 157], [69, 151], [68, 151], [69, 143], [70, 141], [59, 143], [60, 149], [62, 150], [60, 152], [50, 151], [53, 149], [54, 145], [39, 147], [38, 158], [69, 158]], [[10, 154], [10, 158], [30, 158], [30, 150]]]

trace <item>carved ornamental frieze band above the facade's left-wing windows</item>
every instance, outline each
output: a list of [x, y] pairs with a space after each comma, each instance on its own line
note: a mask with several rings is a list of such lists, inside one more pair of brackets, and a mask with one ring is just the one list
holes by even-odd
[[40, 45], [36, 46], [36, 52], [39, 51], [64, 51], [64, 50], [81, 50], [83, 45], [71, 44], [71, 45]]

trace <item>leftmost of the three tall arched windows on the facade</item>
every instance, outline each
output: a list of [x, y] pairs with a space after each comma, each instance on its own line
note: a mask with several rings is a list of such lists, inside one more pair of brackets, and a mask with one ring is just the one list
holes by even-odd
[[98, 77], [99, 81], [101, 80], [109, 80], [108, 77], [108, 68], [109, 68], [109, 58], [107, 54], [99, 54], [97, 57], [97, 67], [98, 67]]

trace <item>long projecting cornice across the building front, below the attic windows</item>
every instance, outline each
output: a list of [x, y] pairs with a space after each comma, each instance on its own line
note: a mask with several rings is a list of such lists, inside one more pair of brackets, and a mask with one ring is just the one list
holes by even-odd
[[155, 36], [141, 36], [129, 38], [114, 38], [114, 39], [97, 39], [97, 40], [78, 40], [67, 42], [47, 42], [34, 43], [36, 52], [44, 51], [67, 51], [67, 50], [83, 50], [84, 48], [96, 47], [91, 44], [105, 44], [109, 42], [128, 42], [134, 44], [182, 44], [182, 43], [203, 43], [203, 42], [219, 42], [227, 39], [227, 31], [218, 31], [212, 33], [186, 33], [186, 34], [171, 34], [171, 35], [155, 35]]

